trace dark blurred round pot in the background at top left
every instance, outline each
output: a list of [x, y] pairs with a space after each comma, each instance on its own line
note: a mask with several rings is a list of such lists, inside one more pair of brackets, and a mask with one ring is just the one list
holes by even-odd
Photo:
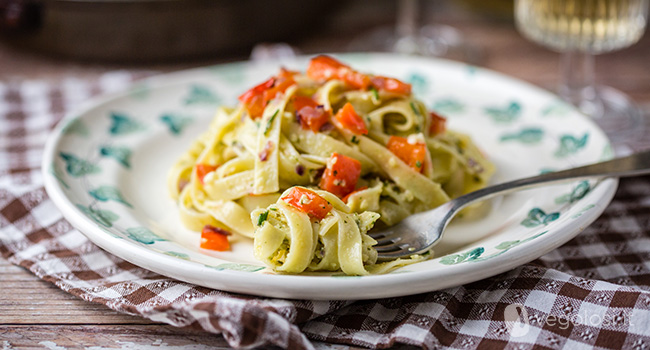
[[2, 37], [30, 50], [102, 62], [242, 53], [317, 28], [331, 0], [0, 0]]

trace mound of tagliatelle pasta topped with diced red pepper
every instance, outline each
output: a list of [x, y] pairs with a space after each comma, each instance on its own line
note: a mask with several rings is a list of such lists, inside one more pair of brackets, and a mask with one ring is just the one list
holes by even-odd
[[170, 170], [182, 222], [252, 238], [255, 257], [282, 273], [364, 275], [423, 259], [376, 264], [368, 232], [484, 187], [493, 166], [410, 90], [329, 56], [306, 74], [282, 69], [220, 108]]

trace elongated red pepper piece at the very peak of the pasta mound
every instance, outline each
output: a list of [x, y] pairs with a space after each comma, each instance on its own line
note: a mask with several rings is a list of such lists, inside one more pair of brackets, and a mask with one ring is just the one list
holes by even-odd
[[307, 67], [307, 76], [314, 80], [339, 79], [354, 88], [363, 90], [370, 86], [369, 76], [325, 55], [311, 59]]

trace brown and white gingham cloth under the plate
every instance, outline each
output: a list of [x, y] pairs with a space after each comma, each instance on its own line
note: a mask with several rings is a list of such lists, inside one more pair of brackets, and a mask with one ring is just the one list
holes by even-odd
[[[625, 179], [605, 213], [561, 248], [465, 286], [400, 298], [295, 301], [221, 292], [136, 267], [88, 241], [43, 189], [50, 129], [98, 81], [0, 84], [0, 253], [85, 300], [233, 347], [311, 349], [310, 340], [387, 348], [650, 349], [650, 177]], [[2, 305], [0, 304], [0, 319]]]

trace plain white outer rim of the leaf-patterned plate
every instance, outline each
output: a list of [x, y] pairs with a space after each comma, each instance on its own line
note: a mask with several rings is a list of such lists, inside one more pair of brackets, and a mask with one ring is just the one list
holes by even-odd
[[[354, 54], [354, 55], [359, 55]], [[400, 55], [391, 54], [363, 54], [374, 57], [392, 57], [404, 58]], [[311, 56], [301, 56], [298, 58], [305, 59]], [[408, 57], [412, 58], [412, 57]], [[412, 58], [416, 60], [423, 60], [423, 58]], [[444, 59], [427, 59], [428, 63], [436, 64], [437, 61], [445, 64], [452, 64], [463, 66], [466, 64]], [[233, 271], [233, 270], [215, 270], [205, 266], [199, 262], [185, 261], [172, 256], [156, 252], [152, 249], [146, 249], [134, 242], [114, 237], [106, 233], [94, 221], [75, 206], [74, 203], [65, 195], [62, 187], [55, 179], [54, 176], [49, 174], [49, 166], [55, 159], [55, 152], [57, 145], [62, 140], [64, 133], [62, 132], [65, 125], [73, 120], [79, 120], [87, 116], [90, 111], [99, 106], [108, 104], [117, 99], [127, 97], [132, 93], [131, 88], [135, 84], [149, 82], [153, 85], [153, 89], [160, 88], [164, 85], [180, 84], [179, 77], [189, 74], [193, 71], [200, 71], [210, 67], [224, 67], [228, 65], [248, 65], [250, 61], [239, 61], [226, 64], [218, 64], [207, 67], [198, 67], [187, 70], [181, 70], [166, 74], [161, 74], [146, 78], [145, 80], [136, 81], [119, 92], [112, 92], [102, 94], [100, 96], [89, 99], [86, 103], [80, 105], [78, 108], [71, 110], [64, 118], [56, 125], [56, 127], [48, 135], [47, 142], [43, 151], [43, 158], [41, 162], [41, 172], [43, 175], [43, 183], [48, 196], [52, 199], [53, 203], [58, 210], [61, 211], [63, 217], [72, 224], [73, 227], [78, 229], [94, 244], [105, 251], [114, 254], [130, 263], [139, 267], [159, 273], [163, 276], [176, 278], [180, 281], [203, 285], [210, 288], [215, 288], [223, 291], [258, 295], [263, 297], [275, 297], [286, 299], [308, 299], [308, 300], [361, 300], [361, 299], [375, 299], [397, 297], [404, 295], [412, 295], [423, 292], [430, 292], [444, 288], [459, 286], [466, 283], [478, 281], [483, 278], [494, 276], [515, 267], [518, 267], [526, 262], [532, 261], [531, 256], [535, 259], [546, 254], [547, 252], [566, 243], [578, 233], [582, 232], [589, 224], [594, 222], [602, 212], [607, 208], [611, 202], [618, 187], [617, 178], [608, 178], [601, 181], [594, 189], [601, 189], [602, 194], [598, 205], [591, 210], [585, 212], [579, 218], [561, 223], [554, 231], [562, 230], [564, 233], [560, 239], [557, 235], [543, 235], [535, 239], [537, 244], [521, 244], [512, 248], [507, 253], [500, 256], [495, 256], [488, 260], [480, 262], [480, 269], [470, 268], [468, 264], [446, 265], [442, 276], [439, 274], [441, 270], [426, 270], [426, 271], [411, 271], [399, 274], [383, 274], [383, 275], [370, 275], [361, 278], [351, 276], [349, 278], [323, 278], [322, 276], [309, 276], [309, 275], [284, 275], [284, 274], [264, 274], [257, 273], [255, 275], [255, 282], [250, 283], [250, 272]], [[267, 62], [266, 65], [273, 64]], [[536, 93], [545, 92], [546, 90], [532, 85], [523, 80], [505, 75], [503, 73], [493, 71], [487, 68], [477, 67], [482, 72], [487, 72], [501, 79], [507, 79], [508, 83], [516, 82], [517, 84], [526, 85], [528, 88], [535, 90]], [[174, 82], [174, 80], [177, 80]], [[583, 116], [583, 122], [591, 123], [592, 127], [600, 130], [593, 121]], [[602, 132], [602, 131], [601, 131]], [[560, 223], [558, 223], [560, 224]], [[537, 247], [542, 246], [543, 249], [539, 250]], [[540, 252], [543, 252], [540, 254]], [[471, 264], [471, 266], [478, 266]], [[474, 271], [472, 271], [474, 270]], [[170, 272], [171, 271], [171, 272]], [[459, 277], [460, 274], [460, 277]], [[212, 281], [205, 281], [205, 276], [212, 275]], [[215, 278], [215, 276], [217, 276]], [[455, 278], [445, 278], [445, 277]], [[437, 279], [435, 285], [429, 282], [429, 279], [435, 277]], [[304, 283], [296, 292], [292, 285], [296, 281], [307, 279], [309, 283]], [[225, 282], [224, 282], [225, 280]], [[414, 283], [417, 281], [419, 283]], [[197, 282], [199, 281], [199, 282]], [[426, 283], [423, 283], [425, 281]], [[216, 282], [216, 283], [213, 283]], [[401, 285], [403, 283], [411, 283], [412, 285], [408, 290], [402, 289], [385, 289], [386, 285]], [[254, 289], [252, 287], [259, 287], [260, 285], [268, 286], [269, 288]], [[325, 288], [327, 287], [327, 288]], [[338, 294], [332, 294], [331, 290], [339, 290]], [[255, 293], [251, 293], [255, 291]], [[329, 291], [329, 292], [327, 292]], [[343, 293], [340, 291], [344, 291]]]

